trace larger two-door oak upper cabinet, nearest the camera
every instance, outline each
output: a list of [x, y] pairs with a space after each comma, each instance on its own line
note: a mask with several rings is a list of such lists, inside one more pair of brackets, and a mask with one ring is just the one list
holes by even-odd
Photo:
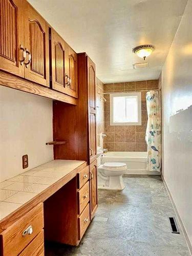
[[25, 0], [0, 1], [0, 69], [49, 87], [49, 26]]

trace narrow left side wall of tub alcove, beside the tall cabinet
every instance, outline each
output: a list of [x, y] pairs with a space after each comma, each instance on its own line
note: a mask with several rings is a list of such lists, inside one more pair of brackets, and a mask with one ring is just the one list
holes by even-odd
[[102, 99], [103, 95], [103, 83], [96, 78], [97, 84], [97, 144], [102, 148], [105, 147], [104, 140], [101, 139], [101, 134], [104, 133], [104, 101]]

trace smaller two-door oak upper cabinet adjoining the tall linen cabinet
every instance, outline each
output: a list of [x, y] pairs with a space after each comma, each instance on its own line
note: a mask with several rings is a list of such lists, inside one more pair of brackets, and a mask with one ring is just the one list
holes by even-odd
[[54, 29], [49, 33], [52, 89], [77, 98], [77, 54]]

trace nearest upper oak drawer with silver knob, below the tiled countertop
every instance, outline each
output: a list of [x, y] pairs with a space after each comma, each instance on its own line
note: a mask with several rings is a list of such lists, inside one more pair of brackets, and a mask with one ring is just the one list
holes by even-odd
[[44, 210], [43, 204], [40, 203], [1, 233], [3, 255], [17, 255], [36, 237], [43, 227]]

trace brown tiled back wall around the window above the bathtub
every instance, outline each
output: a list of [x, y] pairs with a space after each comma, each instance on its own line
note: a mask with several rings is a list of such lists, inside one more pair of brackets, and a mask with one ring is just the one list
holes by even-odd
[[[104, 84], [104, 92], [131, 92], [158, 89], [158, 80]], [[104, 133], [108, 151], [147, 151], [145, 131], [147, 124], [146, 92], [141, 92], [141, 125], [110, 125], [110, 95], [105, 94]]]

